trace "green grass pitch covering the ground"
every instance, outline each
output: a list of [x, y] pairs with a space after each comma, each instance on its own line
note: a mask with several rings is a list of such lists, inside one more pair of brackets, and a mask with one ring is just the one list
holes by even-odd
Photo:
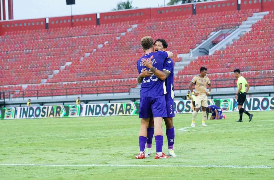
[[253, 114], [201, 127], [199, 113], [194, 128], [176, 115], [169, 159], [134, 159], [138, 116], [0, 120], [0, 179], [274, 179], [274, 111]]

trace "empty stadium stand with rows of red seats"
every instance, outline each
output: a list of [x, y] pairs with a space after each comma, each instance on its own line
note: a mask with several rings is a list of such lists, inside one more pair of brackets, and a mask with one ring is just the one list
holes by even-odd
[[[120, 17], [118, 11], [113, 16], [103, 13], [100, 25], [90, 21], [92, 25], [54, 27], [55, 21], [65, 21], [53, 19], [50, 20], [53, 28], [6, 31], [0, 36], [0, 92], [5, 92], [8, 98], [137, 92], [131, 89], [139, 88], [136, 60], [143, 54], [142, 37], [166, 39], [168, 50], [175, 53], [176, 66], [182, 60], [178, 54], [188, 54], [218, 27], [241, 25], [254, 12], [262, 11], [259, 6], [236, 10], [236, 1], [234, 5], [233, 2], [222, 5], [231, 9], [212, 12], [199, 8], [193, 14], [189, 5], [183, 5], [172, 7], [173, 12], [176, 9], [176, 15], [167, 17], [162, 14], [172, 13], [170, 8], [161, 11], [151, 8], [149, 10], [156, 14], [150, 18], [123, 16], [122, 22], [115, 22]], [[207, 4], [206, 8], [209, 8], [212, 3], [197, 5]], [[177, 9], [182, 13], [178, 14]], [[131, 16], [137, 16], [137, 13], [140, 17], [150, 16], [141, 11], [132, 10]], [[88, 17], [84, 19], [87, 23]], [[113, 19], [113, 23], [109, 19]], [[273, 19], [274, 11], [270, 11], [233, 44], [210, 56], [190, 61], [175, 75], [175, 89], [188, 89], [189, 81], [200, 66], [209, 69], [208, 76], [214, 88], [235, 87], [231, 72], [236, 68], [250, 78], [251, 86], [274, 85]], [[221, 40], [219, 38], [218, 42]]]

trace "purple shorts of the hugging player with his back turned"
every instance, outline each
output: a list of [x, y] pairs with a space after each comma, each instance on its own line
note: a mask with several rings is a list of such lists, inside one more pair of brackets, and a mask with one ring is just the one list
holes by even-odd
[[165, 95], [155, 97], [141, 97], [139, 118], [167, 117]]

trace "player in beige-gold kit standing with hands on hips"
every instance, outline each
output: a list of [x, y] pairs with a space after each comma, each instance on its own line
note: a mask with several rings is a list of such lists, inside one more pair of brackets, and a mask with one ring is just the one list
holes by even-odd
[[[189, 89], [193, 95], [196, 96], [195, 111], [193, 112], [191, 127], [195, 127], [195, 120], [202, 106], [202, 126], [206, 125], [206, 107], [207, 107], [207, 95], [211, 91], [211, 83], [208, 77], [206, 77], [207, 68], [200, 68], [200, 75], [194, 76], [190, 82]], [[195, 92], [193, 92], [192, 86], [195, 85]], [[209, 85], [209, 91], [207, 92], [207, 85]]]

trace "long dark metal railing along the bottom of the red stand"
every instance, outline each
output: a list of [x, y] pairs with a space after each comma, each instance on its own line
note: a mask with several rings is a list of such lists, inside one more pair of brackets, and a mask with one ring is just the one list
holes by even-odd
[[[179, 76], [180, 77], [180, 76]], [[274, 77], [262, 77], [262, 78], [246, 78], [249, 86], [255, 89], [255, 86], [273, 86], [274, 88]], [[234, 88], [236, 90], [236, 79], [219, 79], [211, 80], [212, 88]], [[174, 82], [175, 90], [186, 90], [189, 89], [190, 81]], [[29, 97], [51, 97], [54, 96], [66, 96], [68, 95], [79, 95], [83, 96], [84, 94], [103, 94], [103, 93], [121, 93], [127, 92], [130, 94], [136, 94], [136, 92], [130, 92], [130, 89], [135, 88], [136, 85], [115, 85], [115, 86], [93, 86], [93, 87], [74, 87], [74, 88], [57, 88], [57, 89], [37, 89], [37, 90], [15, 90], [15, 91], [6, 91], [1, 94], [5, 98], [29, 98]], [[20, 93], [19, 93], [20, 92]]]

